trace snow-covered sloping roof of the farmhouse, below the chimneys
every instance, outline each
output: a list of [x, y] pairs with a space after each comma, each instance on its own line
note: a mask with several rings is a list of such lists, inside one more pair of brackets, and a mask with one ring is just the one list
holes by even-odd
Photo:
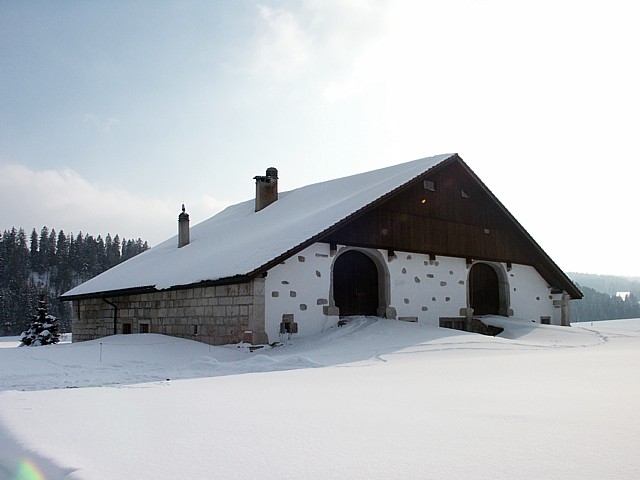
[[255, 212], [254, 199], [232, 205], [66, 292], [63, 298], [138, 288], [163, 290], [248, 275], [427, 170], [456, 157], [437, 155], [280, 193]]

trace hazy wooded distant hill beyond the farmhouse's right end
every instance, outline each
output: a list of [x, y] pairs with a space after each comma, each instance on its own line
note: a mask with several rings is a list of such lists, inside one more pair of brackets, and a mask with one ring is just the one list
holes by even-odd
[[[582, 300], [571, 301], [572, 322], [593, 322], [619, 318], [640, 318], [640, 278], [568, 272], [584, 293]], [[618, 292], [629, 292], [622, 298]]]

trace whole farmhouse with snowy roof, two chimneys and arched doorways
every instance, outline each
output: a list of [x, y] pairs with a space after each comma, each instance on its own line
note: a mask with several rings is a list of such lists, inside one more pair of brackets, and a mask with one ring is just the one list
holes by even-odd
[[256, 198], [65, 293], [74, 341], [164, 333], [212, 344], [307, 335], [372, 315], [465, 328], [569, 325], [582, 293], [457, 155]]

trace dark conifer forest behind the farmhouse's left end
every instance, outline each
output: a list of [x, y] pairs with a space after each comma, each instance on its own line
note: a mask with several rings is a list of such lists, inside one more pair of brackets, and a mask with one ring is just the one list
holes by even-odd
[[44, 296], [62, 332], [71, 331], [71, 305], [58, 297], [99, 273], [149, 249], [138, 238], [107, 234], [67, 235], [44, 226], [27, 236], [23, 228], [0, 237], [0, 335], [19, 335]]

